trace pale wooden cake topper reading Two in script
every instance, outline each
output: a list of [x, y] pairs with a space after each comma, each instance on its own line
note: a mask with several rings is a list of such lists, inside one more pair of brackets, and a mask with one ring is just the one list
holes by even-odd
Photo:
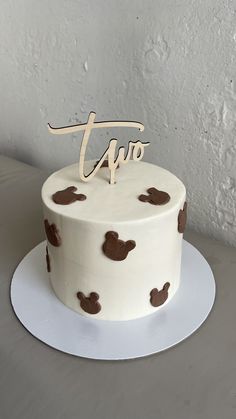
[[[93, 170], [88, 174], [84, 174], [84, 160], [86, 148], [88, 145], [89, 137], [91, 131], [94, 128], [113, 128], [113, 127], [128, 127], [128, 128], [138, 128], [139, 131], [144, 130], [144, 125], [140, 122], [134, 121], [103, 121], [103, 122], [94, 122], [96, 117], [95, 112], [90, 112], [88, 117], [88, 122], [86, 124], [71, 125], [67, 127], [53, 128], [48, 124], [48, 129], [52, 134], [71, 134], [77, 131], [84, 131], [81, 147], [80, 147], [80, 157], [79, 157], [79, 175], [80, 179], [84, 182], [88, 182], [92, 179], [97, 171], [103, 166], [105, 160], [108, 161], [108, 169], [110, 170], [110, 183], [115, 183], [115, 171], [119, 164], [126, 164], [129, 162], [131, 157], [133, 160], [141, 160], [144, 155], [144, 148], [147, 147], [150, 143], [142, 143], [140, 140], [130, 141], [128, 145], [128, 151], [125, 153], [125, 147], [119, 147], [118, 154], [116, 153], [117, 139], [112, 138], [110, 140], [109, 146], [106, 151], [103, 153], [102, 157], [98, 161], [97, 165]], [[117, 157], [115, 157], [117, 154]]]

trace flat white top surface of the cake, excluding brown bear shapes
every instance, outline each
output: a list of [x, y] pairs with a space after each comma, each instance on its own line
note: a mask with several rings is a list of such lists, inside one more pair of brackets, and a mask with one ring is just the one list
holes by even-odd
[[[89, 173], [96, 161], [85, 162], [86, 173]], [[69, 205], [60, 205], [52, 196], [67, 187], [77, 188], [76, 194], [86, 196]], [[162, 205], [152, 205], [139, 199], [140, 195], [148, 196], [147, 190], [156, 188], [169, 194], [170, 199]], [[121, 165], [116, 171], [116, 184], [109, 184], [109, 169], [102, 167], [90, 182], [79, 178], [78, 163], [53, 173], [44, 182], [42, 199], [53, 212], [74, 219], [98, 223], [119, 223], [147, 220], [166, 214], [167, 211], [179, 208], [185, 199], [184, 184], [169, 171], [143, 161], [130, 161]]]

